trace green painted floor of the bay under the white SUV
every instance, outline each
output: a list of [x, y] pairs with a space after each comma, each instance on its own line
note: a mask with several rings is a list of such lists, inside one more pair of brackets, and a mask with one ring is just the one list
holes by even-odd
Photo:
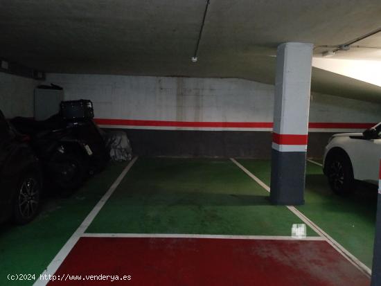
[[[239, 161], [269, 185], [269, 160]], [[305, 205], [298, 206], [299, 211], [371, 268], [377, 191], [360, 184], [351, 195], [337, 196], [331, 192], [321, 167], [310, 162], [305, 179]]]

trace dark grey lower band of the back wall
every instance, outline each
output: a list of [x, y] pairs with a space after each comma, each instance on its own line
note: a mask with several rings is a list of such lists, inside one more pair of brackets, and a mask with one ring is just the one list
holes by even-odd
[[[271, 158], [272, 132], [123, 130], [139, 156]], [[332, 134], [311, 132], [308, 157], [323, 157]]]

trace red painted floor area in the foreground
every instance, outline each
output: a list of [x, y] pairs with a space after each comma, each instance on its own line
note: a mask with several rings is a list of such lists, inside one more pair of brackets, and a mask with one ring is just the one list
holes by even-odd
[[[324, 241], [200, 238], [81, 238], [49, 285], [368, 286]], [[132, 276], [86, 280], [85, 275]]]

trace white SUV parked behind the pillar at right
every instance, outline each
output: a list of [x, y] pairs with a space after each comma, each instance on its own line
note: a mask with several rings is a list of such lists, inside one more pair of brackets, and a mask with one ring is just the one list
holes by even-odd
[[324, 152], [324, 174], [330, 188], [340, 195], [355, 180], [378, 185], [381, 159], [381, 123], [363, 133], [335, 134]]

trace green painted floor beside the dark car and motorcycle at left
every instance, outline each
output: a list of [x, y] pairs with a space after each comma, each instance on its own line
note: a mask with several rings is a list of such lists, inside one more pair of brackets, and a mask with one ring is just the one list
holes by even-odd
[[42, 212], [25, 226], [0, 225], [0, 285], [33, 285], [32, 281], [10, 281], [8, 274], [39, 274], [125, 167], [109, 164], [107, 170], [87, 181], [71, 197], [50, 196]]

